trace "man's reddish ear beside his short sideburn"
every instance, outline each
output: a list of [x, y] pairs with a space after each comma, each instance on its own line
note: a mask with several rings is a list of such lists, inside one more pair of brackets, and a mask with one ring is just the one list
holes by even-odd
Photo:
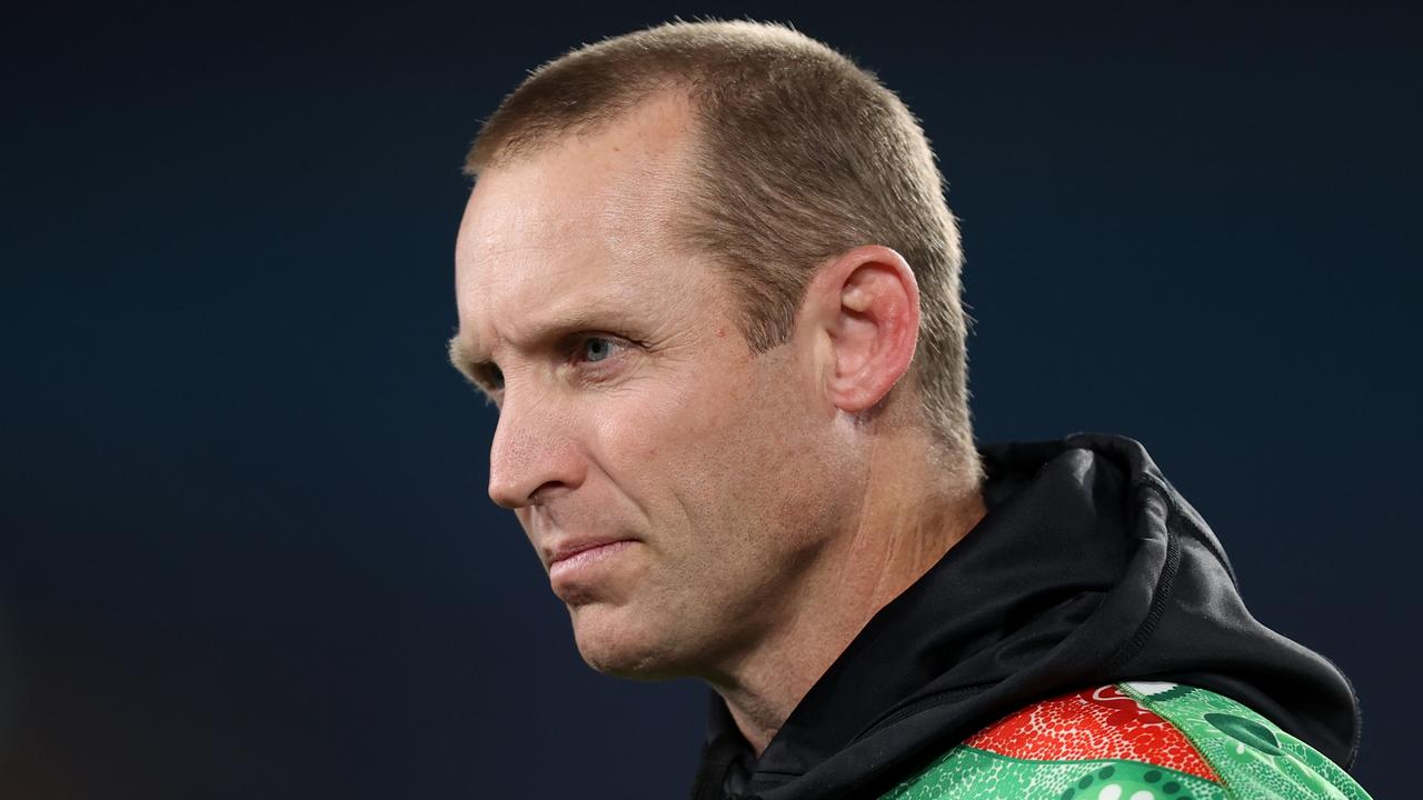
[[919, 283], [904, 256], [864, 245], [822, 268], [804, 309], [828, 347], [818, 364], [827, 399], [848, 413], [874, 407], [909, 370], [919, 339]]

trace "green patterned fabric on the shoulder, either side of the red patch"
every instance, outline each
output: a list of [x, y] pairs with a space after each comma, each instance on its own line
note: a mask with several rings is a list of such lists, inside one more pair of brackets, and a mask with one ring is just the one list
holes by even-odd
[[1245, 706], [1174, 683], [1117, 686], [1221, 779], [1118, 759], [1023, 760], [961, 744], [881, 800], [1369, 800], [1342, 769]]

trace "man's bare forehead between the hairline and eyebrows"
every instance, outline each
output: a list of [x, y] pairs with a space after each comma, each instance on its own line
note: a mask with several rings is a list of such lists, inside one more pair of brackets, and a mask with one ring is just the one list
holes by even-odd
[[[676, 104], [647, 104], [481, 175], [457, 242], [462, 333], [544, 327], [586, 306], [613, 312], [665, 292], [682, 253], [689, 130]], [[539, 325], [535, 325], [539, 323]], [[490, 344], [492, 346], [492, 344]]]

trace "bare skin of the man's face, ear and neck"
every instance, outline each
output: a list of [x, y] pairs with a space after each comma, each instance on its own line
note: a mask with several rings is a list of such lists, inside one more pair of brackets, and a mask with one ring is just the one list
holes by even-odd
[[[791, 337], [754, 354], [720, 268], [677, 239], [692, 137], [665, 97], [487, 169], [457, 245], [453, 352], [504, 372], [490, 495], [535, 548], [633, 540], [551, 577], [582, 656], [707, 680], [760, 752], [982, 504], [958, 484], [972, 468], [939, 467], [901, 380], [916, 332], [902, 258], [831, 259]], [[646, 346], [593, 367], [534, 335], [595, 296], [626, 313], [588, 333]]]

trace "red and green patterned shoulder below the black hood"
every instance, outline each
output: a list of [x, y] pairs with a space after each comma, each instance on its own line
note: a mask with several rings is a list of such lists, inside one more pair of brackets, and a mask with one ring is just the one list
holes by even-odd
[[1342, 769], [1244, 705], [1178, 683], [1033, 703], [882, 800], [1366, 800]]

